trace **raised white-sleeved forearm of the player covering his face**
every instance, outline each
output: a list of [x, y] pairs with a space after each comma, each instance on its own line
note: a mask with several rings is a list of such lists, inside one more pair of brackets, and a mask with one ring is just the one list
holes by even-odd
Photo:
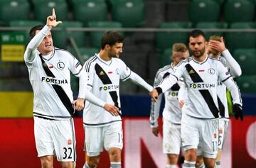
[[233, 74], [233, 77], [240, 77], [242, 74], [242, 70], [238, 62], [232, 57], [230, 52], [228, 50], [224, 50], [222, 52], [222, 55], [225, 57], [225, 60], [227, 61], [227, 66], [231, 71], [231, 74]]

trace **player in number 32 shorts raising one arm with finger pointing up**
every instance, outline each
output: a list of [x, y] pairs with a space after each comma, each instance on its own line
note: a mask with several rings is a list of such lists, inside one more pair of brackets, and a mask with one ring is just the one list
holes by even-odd
[[[70, 52], [53, 47], [50, 30], [60, 23], [53, 9], [46, 26], [31, 29], [32, 39], [24, 53], [34, 93], [36, 149], [43, 168], [53, 167], [53, 155], [61, 167], [74, 167], [76, 159], [70, 72], [79, 77], [82, 66]], [[73, 103], [78, 111], [82, 110], [82, 103]]]

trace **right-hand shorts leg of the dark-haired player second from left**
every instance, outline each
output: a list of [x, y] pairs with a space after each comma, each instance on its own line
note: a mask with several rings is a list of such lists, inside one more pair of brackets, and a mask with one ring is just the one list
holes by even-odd
[[117, 147], [122, 150], [123, 131], [121, 122], [113, 123], [105, 129], [104, 147], [107, 151], [111, 147]]

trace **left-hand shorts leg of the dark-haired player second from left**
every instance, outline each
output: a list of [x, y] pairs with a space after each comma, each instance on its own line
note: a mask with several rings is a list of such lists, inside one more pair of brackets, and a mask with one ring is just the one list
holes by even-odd
[[103, 151], [104, 128], [85, 127], [84, 150], [88, 157], [96, 157]]

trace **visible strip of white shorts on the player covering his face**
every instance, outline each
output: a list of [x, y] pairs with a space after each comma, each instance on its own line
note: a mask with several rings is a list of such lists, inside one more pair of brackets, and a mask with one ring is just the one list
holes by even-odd
[[228, 130], [229, 119], [220, 118], [219, 119], [219, 128], [218, 128], [218, 149], [222, 150], [225, 142], [225, 135]]

